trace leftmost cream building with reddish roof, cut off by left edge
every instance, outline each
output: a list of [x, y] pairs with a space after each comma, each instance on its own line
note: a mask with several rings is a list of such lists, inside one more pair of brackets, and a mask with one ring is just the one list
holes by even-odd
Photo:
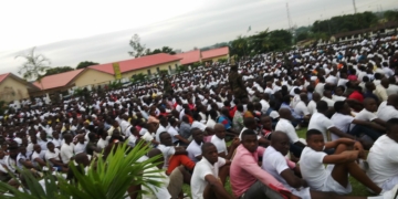
[[39, 91], [39, 87], [12, 73], [0, 75], [0, 101], [9, 103], [29, 98], [29, 93], [36, 91]]

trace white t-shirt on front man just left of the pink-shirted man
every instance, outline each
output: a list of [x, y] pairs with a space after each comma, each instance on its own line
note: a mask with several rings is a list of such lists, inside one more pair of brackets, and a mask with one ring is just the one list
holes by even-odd
[[193, 174], [191, 177], [191, 195], [192, 199], [202, 199], [203, 191], [208, 182], [206, 176], [212, 175], [218, 178], [219, 168], [226, 165], [227, 160], [222, 157], [218, 158], [214, 165], [211, 165], [205, 157], [196, 164]]

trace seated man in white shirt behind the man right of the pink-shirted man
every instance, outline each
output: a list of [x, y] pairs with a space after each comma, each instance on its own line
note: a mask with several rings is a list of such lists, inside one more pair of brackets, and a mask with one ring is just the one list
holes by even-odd
[[276, 124], [275, 130], [285, 133], [287, 135], [291, 143], [291, 153], [295, 157], [300, 158], [301, 153], [305, 147], [305, 143], [300, 142], [297, 133], [291, 123], [291, 119], [293, 118], [292, 113], [286, 108], [281, 108], [279, 114], [281, 118]]

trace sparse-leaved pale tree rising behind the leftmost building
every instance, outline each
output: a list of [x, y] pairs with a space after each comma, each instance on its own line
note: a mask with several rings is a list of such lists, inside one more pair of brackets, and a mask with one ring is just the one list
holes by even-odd
[[[35, 54], [35, 48], [28, 54], [17, 55], [15, 59], [22, 57], [25, 60], [25, 63], [20, 66], [18, 73], [27, 81], [38, 81], [41, 84], [41, 77], [46, 72], [49, 65], [51, 64], [50, 60], [42, 54]], [[43, 88], [43, 85], [41, 85]]]

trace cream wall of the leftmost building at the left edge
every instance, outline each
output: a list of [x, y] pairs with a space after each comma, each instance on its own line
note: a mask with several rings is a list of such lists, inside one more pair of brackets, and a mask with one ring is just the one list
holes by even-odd
[[21, 82], [7, 77], [0, 83], [0, 101], [11, 102], [29, 98], [28, 88]]

